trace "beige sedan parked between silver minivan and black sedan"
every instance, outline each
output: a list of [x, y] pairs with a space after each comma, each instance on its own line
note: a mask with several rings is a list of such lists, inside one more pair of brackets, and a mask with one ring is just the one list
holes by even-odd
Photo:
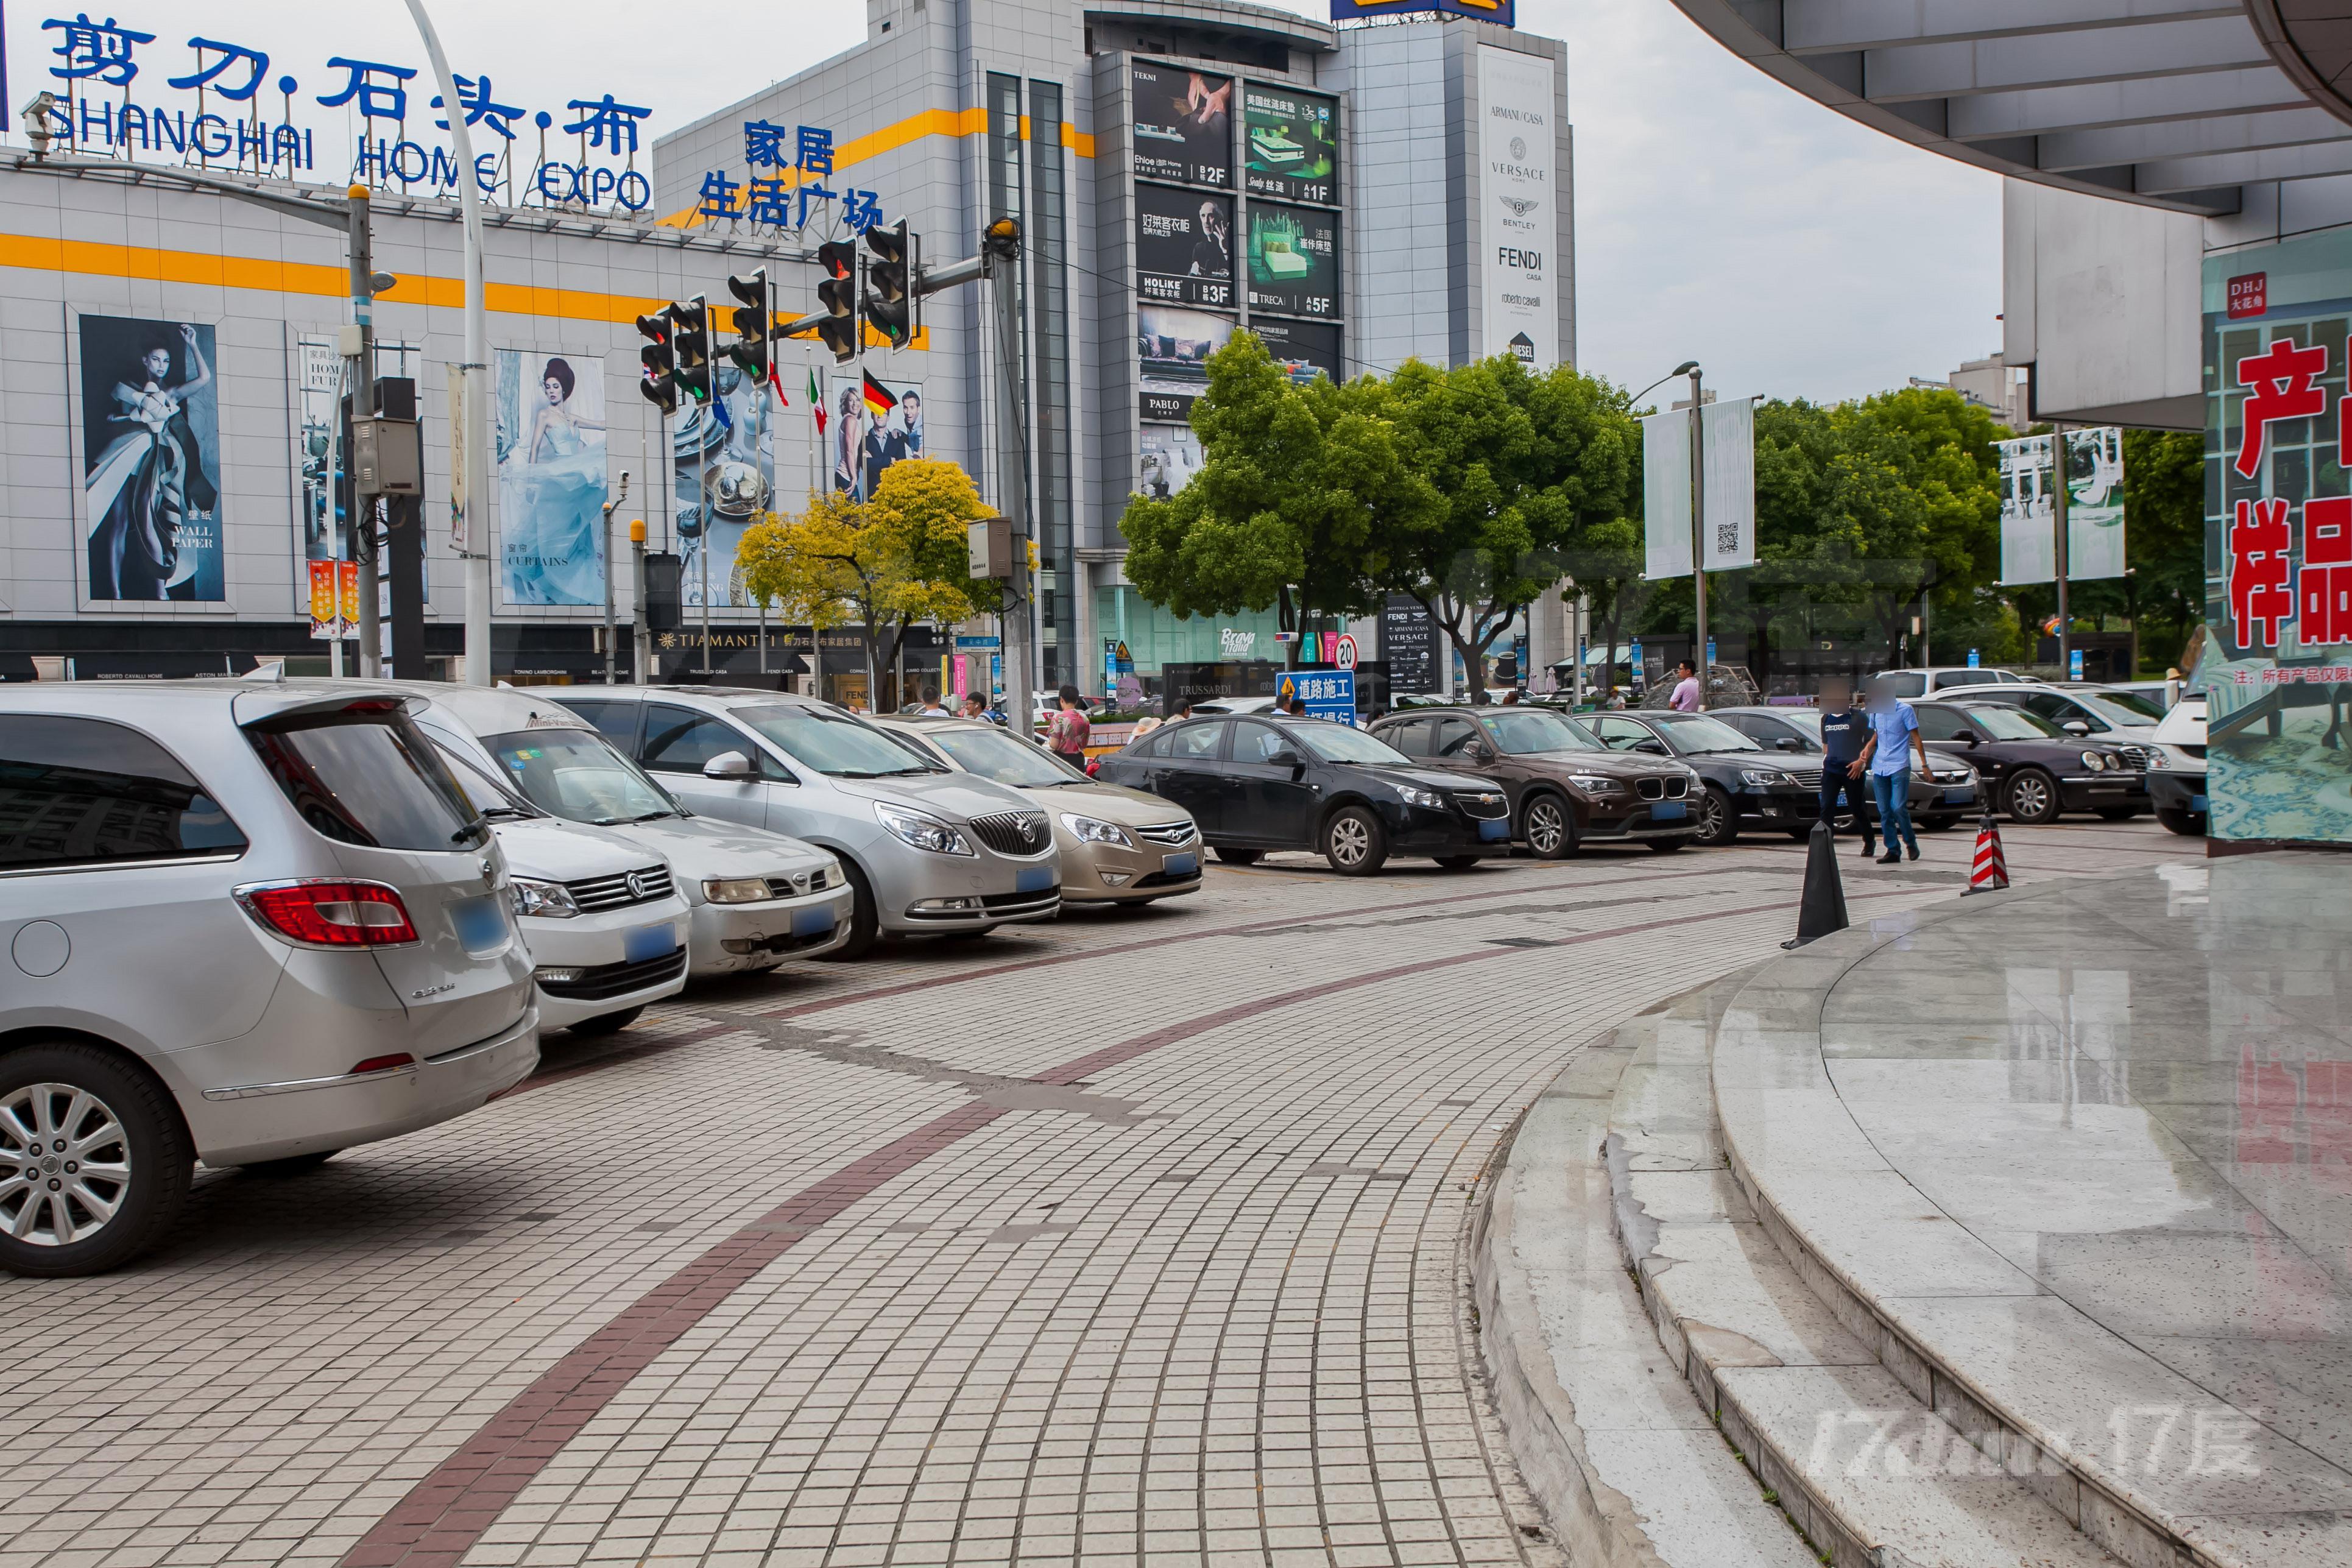
[[981, 719], [868, 719], [927, 762], [1037, 797], [1061, 849], [1063, 903], [1150, 903], [1200, 889], [1200, 827], [1157, 795], [1094, 783]]

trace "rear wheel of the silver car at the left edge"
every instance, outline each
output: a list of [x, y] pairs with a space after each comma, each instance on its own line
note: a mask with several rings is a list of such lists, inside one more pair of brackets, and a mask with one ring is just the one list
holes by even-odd
[[[56, 1124], [78, 1107], [75, 1126]], [[40, 1154], [40, 1187], [24, 1190], [14, 1180], [7, 1182], [14, 1192], [0, 1187], [7, 1194], [0, 1197], [0, 1267], [9, 1274], [99, 1274], [155, 1246], [179, 1218], [195, 1152], [172, 1095], [143, 1067], [101, 1046], [64, 1039], [0, 1056], [0, 1173], [14, 1178], [33, 1164], [35, 1133], [47, 1133], [52, 1145], [68, 1140], [68, 1147]], [[75, 1152], [101, 1159], [61, 1159]], [[47, 1171], [49, 1161], [59, 1166], [54, 1173]], [[106, 1173], [82, 1171], [85, 1164], [106, 1166]], [[78, 1239], [35, 1241], [14, 1234], [33, 1204], [40, 1215], [31, 1229], [40, 1234], [49, 1225], [54, 1234], [59, 1197], [68, 1199], [68, 1227], [78, 1225], [78, 1215], [94, 1215], [85, 1199], [113, 1208]]]

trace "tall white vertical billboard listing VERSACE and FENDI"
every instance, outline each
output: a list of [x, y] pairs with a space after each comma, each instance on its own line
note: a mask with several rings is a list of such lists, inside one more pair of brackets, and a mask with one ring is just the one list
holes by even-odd
[[1559, 364], [1559, 190], [1552, 61], [1479, 45], [1482, 355]]

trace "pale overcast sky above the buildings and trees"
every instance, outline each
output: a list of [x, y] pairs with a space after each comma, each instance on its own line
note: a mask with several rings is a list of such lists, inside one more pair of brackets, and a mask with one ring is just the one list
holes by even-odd
[[[1327, 14], [1322, 0], [1270, 2]], [[59, 35], [42, 33], [42, 19], [80, 9], [12, 7], [12, 106], [49, 85]], [[753, 7], [774, 19], [774, 52], [757, 61], [727, 47], [729, 28], [710, 19], [691, 28], [708, 47], [680, 49], [675, 31], [656, 31], [666, 9], [644, 0], [430, 9], [452, 68], [473, 75], [487, 63], [501, 101], [562, 113], [569, 99], [612, 92], [649, 108], [654, 134], [866, 35], [854, 0]], [[96, 14], [155, 33], [143, 49], [162, 75], [183, 68], [193, 35], [266, 49], [270, 75], [294, 73], [303, 96], [341, 82], [325, 68], [334, 54], [423, 66], [395, 0], [108, 0]], [[1519, 0], [1519, 28], [1569, 45], [1583, 369], [1639, 388], [1700, 360], [1726, 397], [1835, 402], [1940, 378], [1999, 348], [1997, 176], [1780, 87], [1668, 0]], [[329, 125], [346, 110], [308, 113]]]

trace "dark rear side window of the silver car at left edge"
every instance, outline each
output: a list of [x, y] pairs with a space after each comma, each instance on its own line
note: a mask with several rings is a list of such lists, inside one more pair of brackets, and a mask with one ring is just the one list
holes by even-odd
[[24, 712], [0, 724], [0, 867], [242, 849], [221, 804], [136, 729]]

